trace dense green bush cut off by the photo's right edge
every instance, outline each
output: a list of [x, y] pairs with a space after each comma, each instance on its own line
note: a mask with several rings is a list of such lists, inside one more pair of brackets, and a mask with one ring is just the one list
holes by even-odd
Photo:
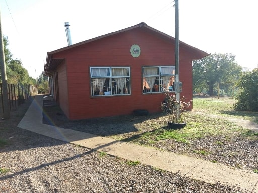
[[239, 93], [234, 108], [242, 111], [258, 112], [258, 68], [242, 74], [236, 82]]

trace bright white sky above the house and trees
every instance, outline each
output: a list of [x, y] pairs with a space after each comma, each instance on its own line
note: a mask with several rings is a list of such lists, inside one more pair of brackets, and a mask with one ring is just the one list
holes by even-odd
[[[175, 37], [173, 0], [0, 0], [2, 34], [31, 77], [47, 52], [145, 22]], [[244, 69], [258, 67], [258, 1], [178, 0], [179, 40], [209, 54], [231, 53]]]

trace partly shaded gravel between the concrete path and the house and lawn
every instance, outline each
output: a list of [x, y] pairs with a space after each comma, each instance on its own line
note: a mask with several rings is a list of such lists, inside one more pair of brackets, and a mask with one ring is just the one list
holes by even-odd
[[[155, 143], [148, 143], [145, 140], [139, 139], [140, 136], [155, 131], [153, 127], [156, 125], [159, 127], [164, 125], [166, 123], [164, 120], [166, 119], [165, 114], [152, 113], [148, 116], [123, 115], [73, 121], [67, 119], [62, 110], [57, 106], [44, 107], [43, 109], [45, 112], [43, 123], [45, 124], [114, 139], [123, 139], [126, 142], [216, 161], [235, 168], [249, 170], [250, 172], [258, 170], [258, 135], [247, 137], [246, 135], [251, 135], [249, 132], [246, 132], [246, 135], [237, 132], [229, 133], [226, 136], [210, 135], [197, 138], [190, 141], [190, 143], [178, 142], [173, 139], [156, 140]], [[200, 114], [199, 116], [207, 116], [206, 121], [211, 124], [216, 124], [216, 118], [219, 119], [217, 115]], [[225, 119], [223, 124], [226, 125], [229, 122]], [[236, 126], [232, 124], [232, 129]], [[223, 129], [223, 125], [221, 129]], [[196, 153], [198, 151], [208, 153]]]

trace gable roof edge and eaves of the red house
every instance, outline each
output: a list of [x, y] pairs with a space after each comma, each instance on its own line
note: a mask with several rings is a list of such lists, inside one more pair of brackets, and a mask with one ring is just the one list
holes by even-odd
[[[83, 44], [87, 44], [89, 42], [93, 42], [93, 41], [96, 41], [96, 40], [99, 40], [99, 39], [102, 39], [102, 38], [105, 38], [105, 37], [108, 37], [108, 36], [112, 36], [112, 35], [115, 35], [115, 34], [126, 32], [126, 31], [129, 31], [129, 30], [135, 29], [135, 28], [140, 28], [141, 30], [144, 30], [144, 31], [146, 31], [146, 32], [148, 32], [150, 34], [153, 34], [155, 36], [158, 36], [158, 37], [161, 37], [163, 39], [166, 39], [166, 40], [168, 40], [170, 42], [171, 42], [171, 40], [175, 41], [174, 37], [169, 36], [169, 35], [161, 32], [161, 31], [158, 31], [158, 30], [148, 26], [144, 22], [141, 22], [141, 23], [139, 23], [137, 25], [134, 25], [134, 26], [122, 29], [122, 30], [111, 32], [111, 33], [108, 33], [108, 34], [105, 34], [105, 35], [102, 35], [102, 36], [98, 36], [96, 38], [92, 38], [92, 39], [85, 40], [85, 41], [82, 41], [82, 42], [79, 42], [79, 43], [76, 43], [76, 44], [72, 44], [72, 45], [67, 46], [67, 47], [63, 47], [63, 48], [51, 51], [51, 52], [47, 52], [46, 64], [44, 65], [45, 75], [48, 76], [47, 71], [49, 71], [51, 69], [54, 69], [56, 66], [58, 66], [64, 60], [64, 58], [52, 59], [52, 55], [53, 54], [58, 53], [58, 52], [62, 52], [62, 51], [65, 51], [65, 50], [69, 50], [71, 48], [74, 48], [74, 47], [77, 47], [77, 46], [80, 46], [80, 45], [83, 45]], [[195, 48], [193, 46], [190, 46], [190, 45], [188, 45], [188, 44], [186, 44], [186, 43], [184, 43], [182, 41], [179, 41], [179, 44], [180, 44], [180, 47], [191, 49], [200, 58], [203, 58], [203, 57], [209, 55], [208, 53], [206, 53], [206, 52], [204, 52], [204, 51], [202, 51], [202, 50], [200, 50], [198, 48]], [[200, 59], [200, 58], [196, 58], [196, 59]]]

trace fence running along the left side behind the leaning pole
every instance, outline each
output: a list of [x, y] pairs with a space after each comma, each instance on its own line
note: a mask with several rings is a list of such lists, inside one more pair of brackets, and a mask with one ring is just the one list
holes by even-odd
[[[10, 110], [18, 106], [32, 95], [37, 94], [37, 88], [31, 84], [7, 84], [8, 102]], [[3, 89], [0, 83], [0, 115], [4, 113]]]

